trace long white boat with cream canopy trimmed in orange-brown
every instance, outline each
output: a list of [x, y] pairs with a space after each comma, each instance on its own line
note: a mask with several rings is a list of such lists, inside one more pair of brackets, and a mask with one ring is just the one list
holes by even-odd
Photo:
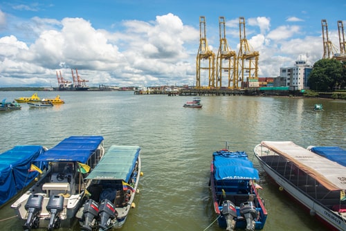
[[264, 171], [329, 230], [346, 230], [346, 167], [291, 141], [254, 148]]

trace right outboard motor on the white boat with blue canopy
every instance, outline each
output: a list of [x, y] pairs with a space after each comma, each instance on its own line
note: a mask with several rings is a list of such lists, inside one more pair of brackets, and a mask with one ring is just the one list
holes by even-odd
[[64, 196], [54, 195], [49, 198], [46, 210], [51, 214], [48, 230], [60, 227], [60, 212], [64, 210]]

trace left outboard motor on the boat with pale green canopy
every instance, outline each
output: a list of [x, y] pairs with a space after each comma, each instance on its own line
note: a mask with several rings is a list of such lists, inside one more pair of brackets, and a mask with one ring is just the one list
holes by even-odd
[[91, 231], [97, 225], [98, 218], [98, 203], [93, 199], [86, 200], [83, 207], [82, 221], [83, 225], [81, 230]]

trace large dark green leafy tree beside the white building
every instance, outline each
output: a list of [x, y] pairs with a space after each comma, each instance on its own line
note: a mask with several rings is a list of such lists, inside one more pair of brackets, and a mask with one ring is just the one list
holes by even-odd
[[346, 87], [346, 63], [336, 59], [320, 59], [313, 64], [308, 79], [311, 90], [331, 92]]

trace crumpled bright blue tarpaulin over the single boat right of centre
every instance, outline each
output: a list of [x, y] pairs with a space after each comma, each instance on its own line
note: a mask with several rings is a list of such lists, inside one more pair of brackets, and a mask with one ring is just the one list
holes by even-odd
[[217, 151], [213, 154], [215, 179], [260, 180], [257, 169], [244, 151]]

